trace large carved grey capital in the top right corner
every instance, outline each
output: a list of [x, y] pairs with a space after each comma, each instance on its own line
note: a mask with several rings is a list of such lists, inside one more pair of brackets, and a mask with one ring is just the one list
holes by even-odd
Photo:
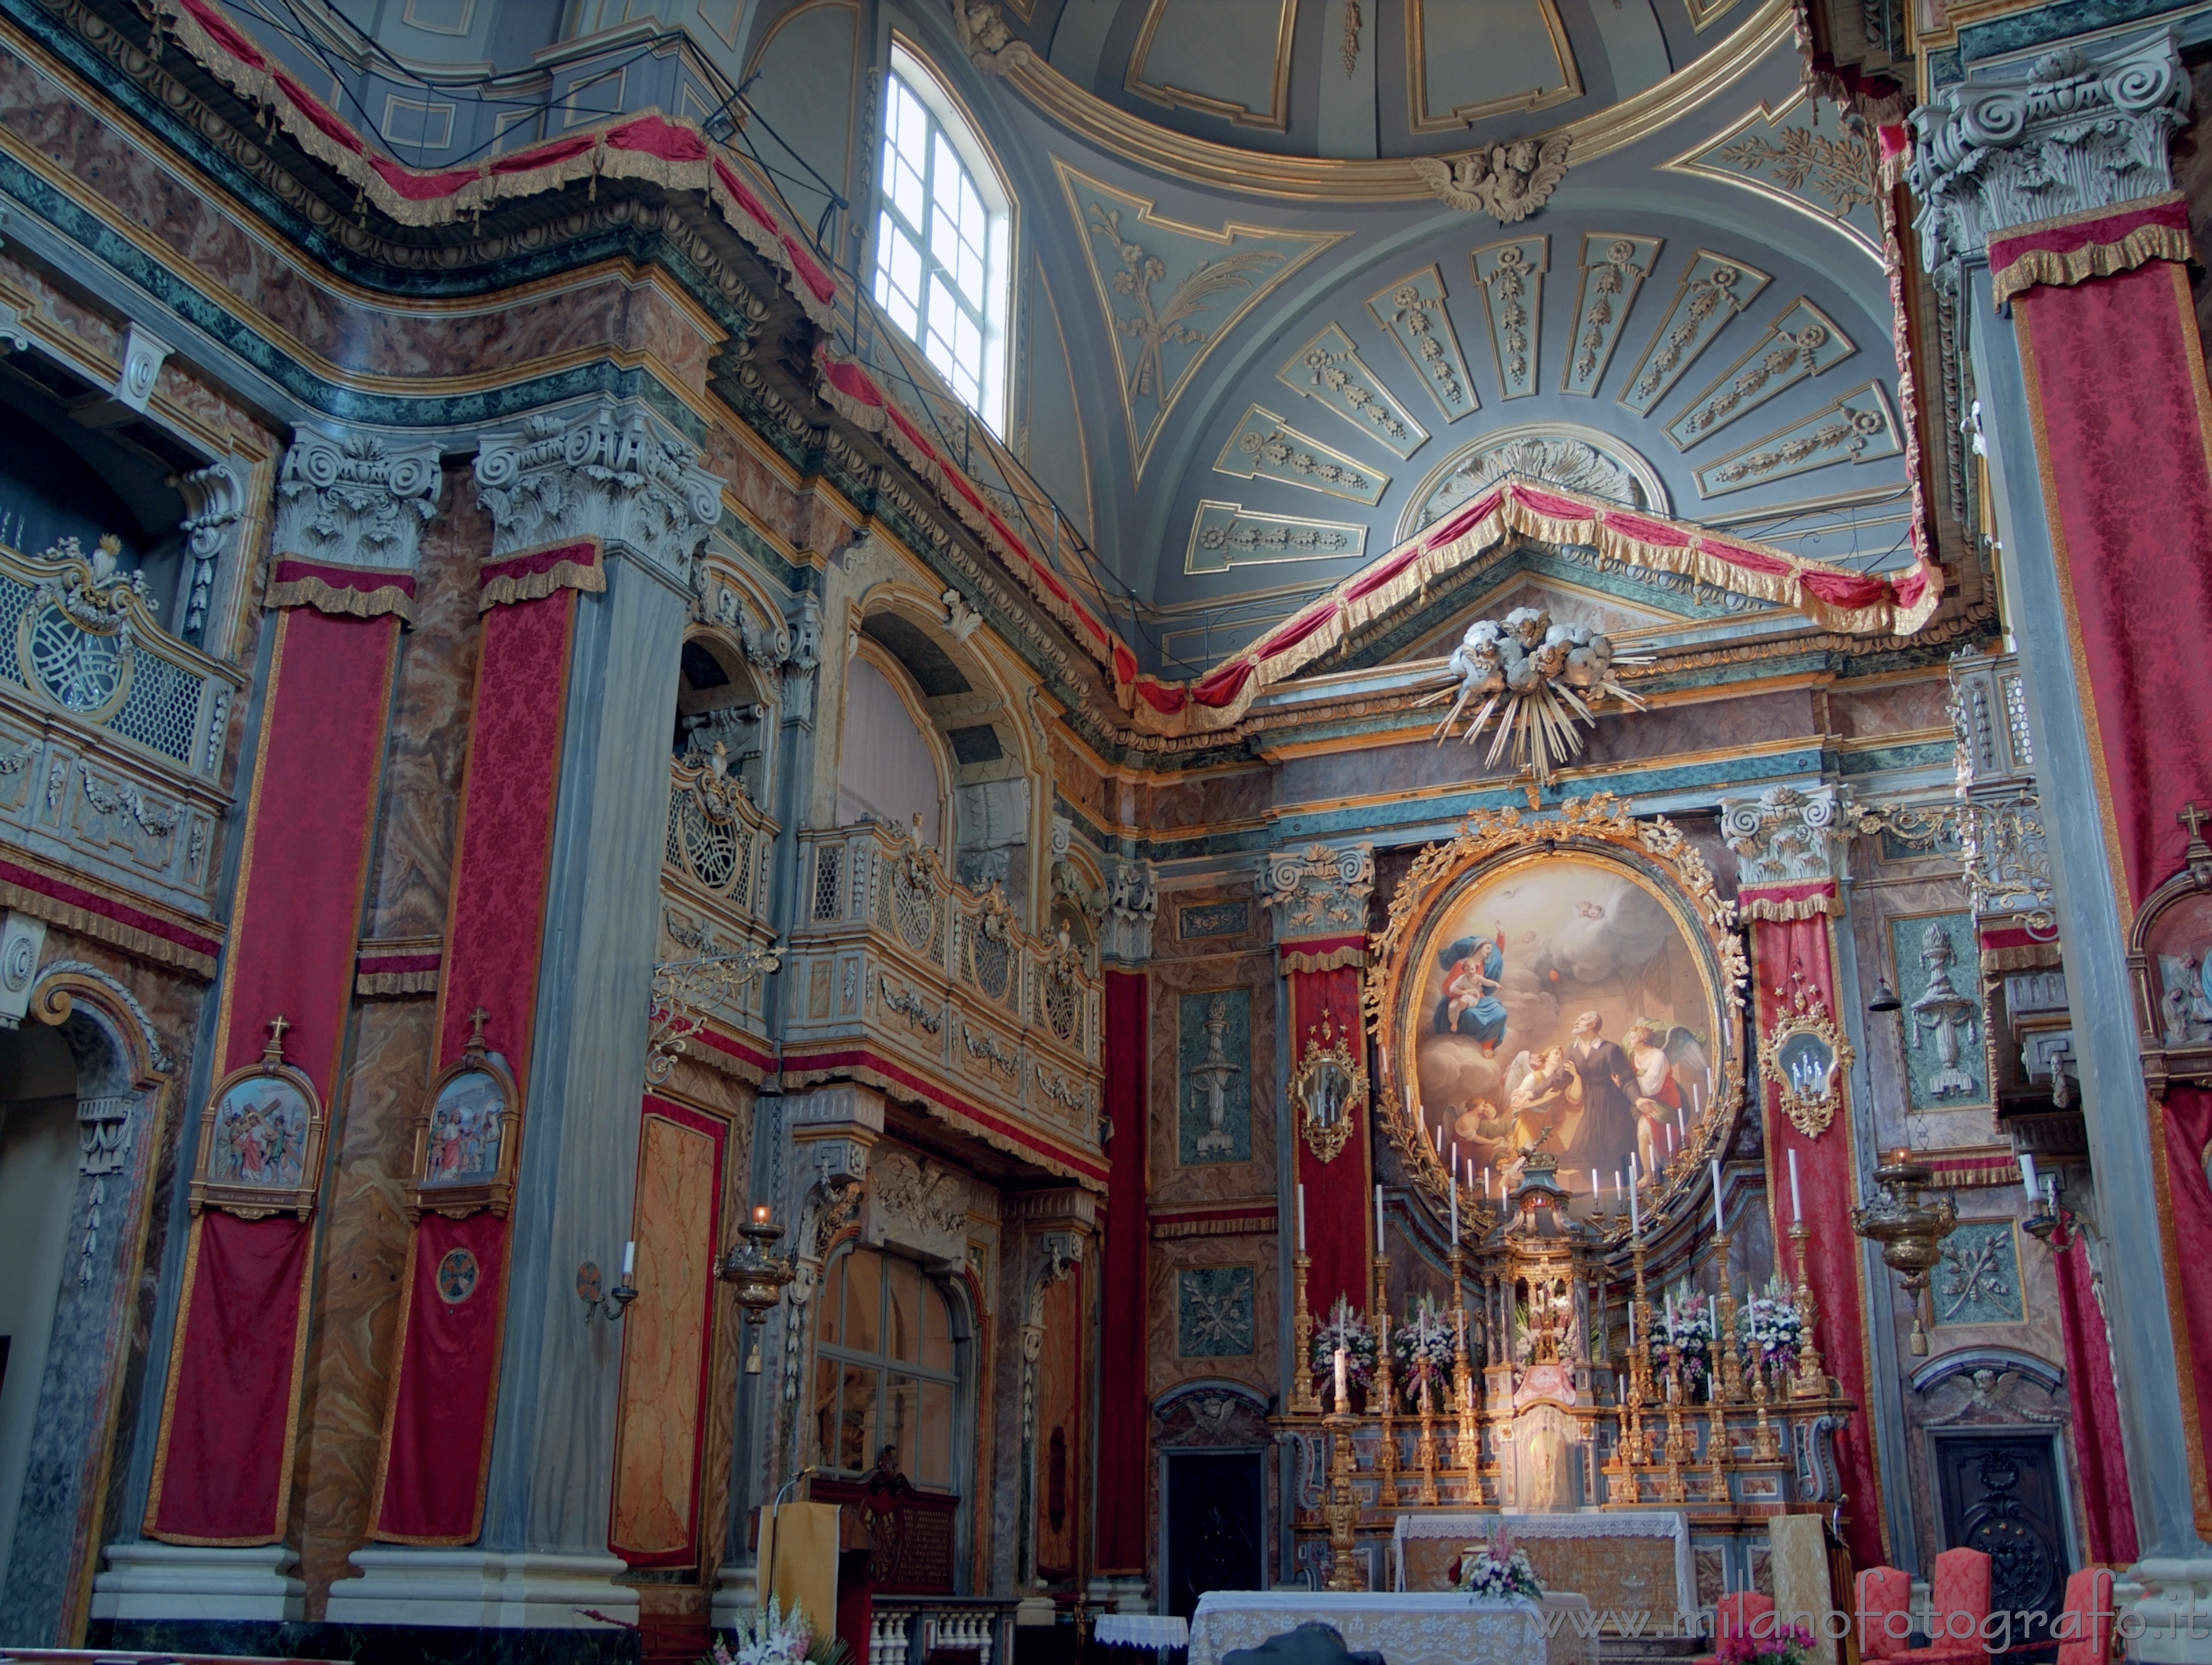
[[1913, 111], [1922, 261], [1933, 272], [2017, 226], [2170, 190], [2166, 146], [2188, 108], [2168, 33], [2095, 55], [2064, 46], [1940, 88]]

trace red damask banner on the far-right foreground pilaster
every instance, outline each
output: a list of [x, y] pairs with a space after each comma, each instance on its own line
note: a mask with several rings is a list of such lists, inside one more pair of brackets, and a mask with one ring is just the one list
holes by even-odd
[[[2179, 250], [2157, 241], [2161, 203], [2022, 234], [1991, 248], [2031, 279], [2013, 299], [2028, 416], [2059, 590], [2088, 716], [2121, 929], [2188, 849], [2177, 814], [2212, 800], [2212, 661], [2168, 628], [2212, 612], [2212, 394]], [[2168, 214], [2170, 219], [2172, 214]], [[2148, 241], [2146, 241], [2148, 237]], [[2079, 272], [2079, 281], [2068, 279]], [[2108, 1106], [2128, 1114], [2128, 1106]], [[2199, 1521], [2212, 1510], [2212, 1300], [2183, 1276], [2212, 1249], [2203, 1095], [2148, 1108], [2163, 1148], [2159, 1227]]]

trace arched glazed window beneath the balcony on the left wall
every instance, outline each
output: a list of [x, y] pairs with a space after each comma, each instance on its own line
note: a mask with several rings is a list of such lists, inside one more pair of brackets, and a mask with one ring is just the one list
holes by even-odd
[[953, 1309], [911, 1260], [852, 1249], [814, 1318], [814, 1446], [825, 1475], [858, 1479], [885, 1446], [925, 1490], [953, 1490]]

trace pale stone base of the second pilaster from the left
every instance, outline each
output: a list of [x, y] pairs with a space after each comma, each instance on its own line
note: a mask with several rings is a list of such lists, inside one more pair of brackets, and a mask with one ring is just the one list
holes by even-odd
[[637, 1590], [613, 1554], [489, 1554], [372, 1543], [347, 1557], [358, 1579], [330, 1585], [334, 1625], [606, 1630], [637, 1623]]

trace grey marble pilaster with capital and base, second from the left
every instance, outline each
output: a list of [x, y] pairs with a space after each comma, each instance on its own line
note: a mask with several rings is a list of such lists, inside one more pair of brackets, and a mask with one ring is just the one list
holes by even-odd
[[604, 593], [577, 604], [560, 807], [484, 1528], [467, 1550], [372, 1546], [330, 1619], [604, 1627], [637, 1614], [608, 1552], [622, 1333], [584, 1316], [577, 1267], [613, 1285], [637, 1179], [657, 944], [668, 741], [690, 568], [721, 513], [697, 449], [637, 402], [533, 416], [476, 460], [489, 559], [595, 542]]

